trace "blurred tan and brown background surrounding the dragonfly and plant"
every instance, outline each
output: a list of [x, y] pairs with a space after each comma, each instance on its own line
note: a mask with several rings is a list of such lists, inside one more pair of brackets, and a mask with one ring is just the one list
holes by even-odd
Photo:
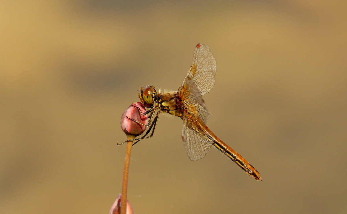
[[212, 148], [193, 162], [182, 121], [136, 144], [142, 213], [345, 213], [347, 3], [7, 1], [0, 7], [0, 213], [108, 213], [121, 191], [120, 116], [138, 87], [177, 90], [195, 45], [217, 60], [209, 127], [261, 173]]

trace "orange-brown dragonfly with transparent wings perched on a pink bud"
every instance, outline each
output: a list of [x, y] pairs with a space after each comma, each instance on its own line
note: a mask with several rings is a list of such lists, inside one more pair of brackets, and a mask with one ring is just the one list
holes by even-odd
[[[133, 144], [152, 137], [159, 114], [168, 113], [183, 119], [182, 140], [190, 160], [196, 161], [205, 157], [213, 145], [249, 176], [262, 180], [259, 172], [245, 158], [219, 139], [206, 125], [211, 114], [202, 96], [213, 88], [216, 72], [217, 64], [212, 51], [208, 46], [200, 43], [195, 47], [192, 66], [177, 91], [161, 93], [157, 92], [153, 85], [140, 88], [138, 96], [149, 110], [146, 112], [141, 112], [139, 108], [138, 110], [142, 115], [149, 114], [149, 122], [142, 124], [128, 118], [149, 128], [142, 136], [135, 138]], [[152, 120], [156, 110], [158, 111]], [[130, 140], [125, 142], [128, 141]]]

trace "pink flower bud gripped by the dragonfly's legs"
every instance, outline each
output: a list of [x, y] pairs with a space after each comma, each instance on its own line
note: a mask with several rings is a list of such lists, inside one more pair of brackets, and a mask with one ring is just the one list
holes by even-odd
[[[127, 136], [141, 135], [147, 128], [146, 126], [141, 125], [139, 123], [147, 125], [148, 115], [142, 115], [139, 109], [142, 113], [146, 112], [146, 109], [141, 102], [134, 102], [125, 110], [120, 119], [120, 125], [122, 127], [122, 130], [123, 132], [125, 132]], [[129, 118], [132, 118], [139, 123], [136, 123], [135, 121], [132, 121]]]

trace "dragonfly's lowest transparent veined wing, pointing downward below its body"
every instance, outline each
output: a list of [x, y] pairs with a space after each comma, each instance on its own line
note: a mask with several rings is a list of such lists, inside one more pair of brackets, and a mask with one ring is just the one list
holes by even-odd
[[210, 150], [213, 138], [198, 126], [196, 115], [187, 112], [183, 115], [182, 139], [189, 159], [192, 161], [205, 157]]

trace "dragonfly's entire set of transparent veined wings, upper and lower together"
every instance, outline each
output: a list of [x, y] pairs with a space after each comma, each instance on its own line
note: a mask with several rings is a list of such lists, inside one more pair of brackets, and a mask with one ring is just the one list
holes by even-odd
[[187, 107], [183, 114], [182, 139], [188, 157], [193, 161], [205, 157], [213, 142], [212, 136], [198, 121], [206, 124], [210, 118], [202, 95], [213, 88], [216, 71], [217, 64], [210, 48], [196, 45], [192, 66], [178, 89], [178, 96]]

